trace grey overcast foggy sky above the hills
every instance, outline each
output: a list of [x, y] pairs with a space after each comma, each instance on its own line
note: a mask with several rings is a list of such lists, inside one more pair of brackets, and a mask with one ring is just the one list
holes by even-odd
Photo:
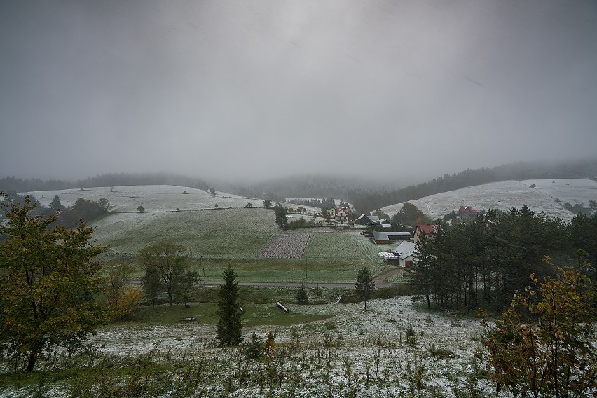
[[0, 1], [1, 177], [427, 178], [596, 122], [593, 0]]

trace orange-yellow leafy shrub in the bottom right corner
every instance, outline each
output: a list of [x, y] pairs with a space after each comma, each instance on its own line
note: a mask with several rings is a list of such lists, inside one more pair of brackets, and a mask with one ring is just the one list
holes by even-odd
[[597, 389], [595, 286], [575, 268], [531, 280], [494, 327], [481, 322], [493, 378], [516, 397], [584, 397]]

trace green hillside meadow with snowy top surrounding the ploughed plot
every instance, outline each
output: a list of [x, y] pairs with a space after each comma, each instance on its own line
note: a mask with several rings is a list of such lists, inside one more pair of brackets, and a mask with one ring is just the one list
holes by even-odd
[[[143, 247], [170, 241], [191, 251], [193, 265], [206, 281], [221, 280], [222, 271], [230, 265], [238, 273], [240, 282], [353, 282], [357, 270], [363, 265], [371, 268], [373, 273], [387, 269], [377, 253], [395, 246], [375, 245], [352, 229], [341, 232], [330, 232], [333, 230], [329, 228], [281, 231], [275, 225], [273, 210], [245, 208], [249, 198], [230, 198], [226, 203], [229, 207], [216, 209], [212, 202], [222, 201], [222, 197], [229, 194], [220, 193], [221, 197], [211, 198], [192, 188], [188, 188], [186, 195], [179, 192], [182, 190], [187, 188], [117, 187], [114, 192], [94, 188], [65, 193], [69, 203], [76, 200], [78, 194], [90, 199], [107, 196], [113, 206], [107, 216], [92, 222], [97, 245], [107, 247], [102, 261], [135, 263]], [[90, 197], [91, 193], [94, 196]], [[48, 199], [53, 195], [60, 196], [61, 191], [36, 195]], [[184, 203], [186, 198], [191, 200], [188, 205]], [[163, 203], [158, 204], [158, 200]], [[168, 203], [169, 200], [173, 202]], [[159, 210], [128, 211], [136, 203], [153, 203], [151, 207]], [[179, 211], [175, 210], [177, 207]], [[259, 256], [263, 247], [280, 233], [311, 235], [301, 259], [263, 259]], [[141, 275], [139, 270], [136, 276]]]

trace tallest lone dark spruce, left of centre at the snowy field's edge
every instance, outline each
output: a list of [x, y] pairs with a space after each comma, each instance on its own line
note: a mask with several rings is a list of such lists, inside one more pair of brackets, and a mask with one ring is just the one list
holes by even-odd
[[217, 324], [217, 335], [220, 345], [238, 345], [242, 336], [242, 313], [238, 308], [238, 282], [231, 266], [224, 270], [224, 284], [218, 291], [220, 319]]

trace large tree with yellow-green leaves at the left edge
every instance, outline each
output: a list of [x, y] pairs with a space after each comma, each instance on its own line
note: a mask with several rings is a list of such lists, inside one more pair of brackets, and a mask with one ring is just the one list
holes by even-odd
[[11, 203], [0, 193], [8, 223], [0, 227], [0, 357], [33, 371], [58, 347], [77, 350], [104, 320], [100, 291], [102, 247], [92, 229], [52, 226], [55, 216], [33, 216], [35, 204]]

